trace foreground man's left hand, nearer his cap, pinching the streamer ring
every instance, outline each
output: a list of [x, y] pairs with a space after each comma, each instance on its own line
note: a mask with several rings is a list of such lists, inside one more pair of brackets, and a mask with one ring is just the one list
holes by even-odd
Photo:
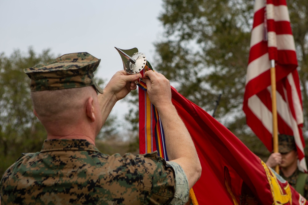
[[122, 98], [127, 96], [127, 94], [131, 92], [131, 90], [137, 89], [135, 81], [138, 80], [139, 77], [139, 73], [129, 75], [124, 70], [118, 71], [112, 76], [112, 78], [106, 85], [104, 93], [110, 93], [116, 101], [121, 100]]

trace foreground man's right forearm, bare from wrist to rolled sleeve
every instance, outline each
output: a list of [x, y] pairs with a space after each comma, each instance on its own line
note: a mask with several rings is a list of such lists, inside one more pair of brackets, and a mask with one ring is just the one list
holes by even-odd
[[168, 158], [180, 164], [191, 188], [201, 175], [201, 165], [193, 140], [172, 104], [158, 108], [158, 112], [164, 127]]

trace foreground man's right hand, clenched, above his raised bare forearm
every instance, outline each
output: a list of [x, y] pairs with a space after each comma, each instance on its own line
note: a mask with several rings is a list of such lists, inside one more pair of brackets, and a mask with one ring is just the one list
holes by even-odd
[[172, 105], [171, 88], [169, 80], [163, 74], [149, 70], [144, 73], [143, 81], [147, 84], [148, 95], [156, 108], [164, 105]]

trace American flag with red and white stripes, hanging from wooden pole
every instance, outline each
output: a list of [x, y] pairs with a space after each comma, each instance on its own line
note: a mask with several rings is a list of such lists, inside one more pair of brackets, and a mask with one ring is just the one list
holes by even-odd
[[[268, 36], [267, 41], [264, 37]], [[276, 62], [278, 132], [292, 135], [300, 171], [307, 171], [303, 111], [294, 38], [285, 0], [256, 0], [243, 110], [247, 125], [273, 150], [270, 60]]]

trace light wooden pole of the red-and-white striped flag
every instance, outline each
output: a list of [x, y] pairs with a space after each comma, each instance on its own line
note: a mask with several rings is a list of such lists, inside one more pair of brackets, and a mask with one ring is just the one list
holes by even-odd
[[[273, 115], [273, 149], [278, 150], [278, 120], [277, 120], [277, 102], [276, 102], [276, 68], [275, 60], [270, 60], [270, 78], [272, 87], [272, 115]], [[275, 167], [275, 171], [279, 174], [279, 165]]]

